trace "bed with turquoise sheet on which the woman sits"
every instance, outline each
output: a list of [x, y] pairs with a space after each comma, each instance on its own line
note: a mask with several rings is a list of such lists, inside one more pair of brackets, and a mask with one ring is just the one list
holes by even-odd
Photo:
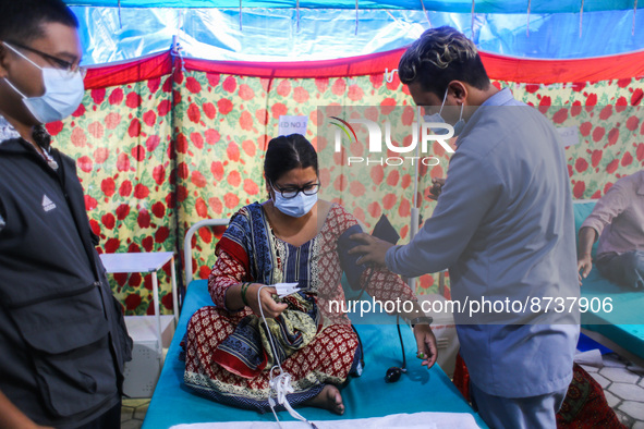
[[[193, 225], [186, 233], [184, 254], [187, 292], [183, 299], [177, 332], [166, 357], [163, 368], [153, 394], [143, 428], [163, 429], [175, 425], [203, 422], [231, 422], [231, 427], [243, 428], [265, 422], [275, 425], [272, 414], [258, 414], [254, 410], [226, 406], [190, 391], [183, 383], [184, 363], [178, 359], [180, 345], [189, 319], [198, 308], [212, 305], [206, 280], [192, 278], [191, 241], [199, 228], [226, 225], [228, 220], [211, 219]], [[370, 324], [369, 315], [354, 320], [365, 353], [365, 369], [360, 378], [351, 379], [342, 389], [345, 405], [343, 416], [328, 410], [302, 407], [297, 410], [308, 420], [347, 420], [364, 418], [387, 418], [396, 414], [417, 416], [417, 425], [423, 427], [486, 427], [481, 417], [463, 399], [450, 379], [438, 365], [427, 370], [415, 356], [416, 345], [412, 331], [402, 327], [405, 344], [408, 372], [394, 383], [385, 382], [387, 368], [401, 365], [401, 350], [396, 321], [388, 324]], [[378, 316], [382, 317], [382, 316]], [[390, 316], [385, 316], [390, 317]], [[352, 319], [354, 319], [352, 317]], [[429, 413], [428, 413], [429, 412]], [[278, 413], [280, 420], [293, 420], [287, 412]], [[409, 417], [409, 416], [408, 416]], [[363, 420], [360, 425], [362, 425]], [[452, 421], [448, 424], [448, 421]], [[460, 421], [457, 424], [455, 421]], [[441, 424], [443, 422], [443, 424]], [[331, 424], [331, 427], [338, 422]], [[306, 425], [299, 424], [305, 428]], [[321, 428], [321, 426], [320, 426]]]

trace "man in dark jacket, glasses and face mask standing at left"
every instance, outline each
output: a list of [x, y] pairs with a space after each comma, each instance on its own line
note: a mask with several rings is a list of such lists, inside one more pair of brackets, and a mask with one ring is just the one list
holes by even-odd
[[0, 2], [0, 428], [120, 427], [131, 340], [42, 127], [83, 98], [76, 27], [61, 0]]

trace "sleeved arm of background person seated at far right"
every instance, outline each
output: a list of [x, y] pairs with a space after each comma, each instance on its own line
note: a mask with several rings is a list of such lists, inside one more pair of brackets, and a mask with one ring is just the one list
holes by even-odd
[[578, 274], [580, 285], [582, 284], [582, 278], [588, 277], [593, 269], [593, 258], [591, 256], [593, 244], [602, 235], [604, 228], [625, 210], [628, 204], [629, 198], [624, 186], [618, 182], [597, 201], [593, 212], [582, 223], [579, 231], [576, 259], [576, 270], [583, 270]]

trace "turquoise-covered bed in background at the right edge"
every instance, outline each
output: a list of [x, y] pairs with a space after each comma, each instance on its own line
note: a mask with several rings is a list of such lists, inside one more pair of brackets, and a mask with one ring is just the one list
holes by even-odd
[[[574, 223], [579, 230], [596, 200], [574, 201]], [[593, 258], [597, 243], [593, 246]], [[582, 332], [633, 364], [644, 366], [644, 292], [629, 291], [603, 278], [597, 268], [582, 281], [581, 295], [591, 305], [582, 312]]]

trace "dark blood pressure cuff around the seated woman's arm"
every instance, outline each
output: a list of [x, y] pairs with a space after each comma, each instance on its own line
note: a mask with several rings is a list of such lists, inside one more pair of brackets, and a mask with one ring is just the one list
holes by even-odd
[[[360, 225], [353, 225], [349, 228], [347, 231], [340, 235], [338, 238], [338, 255], [340, 256], [340, 267], [347, 274], [347, 280], [349, 281], [349, 285], [354, 291], [361, 291], [362, 286], [360, 284], [360, 278], [362, 273], [367, 269], [367, 266], [362, 263], [357, 265], [357, 259], [362, 256], [360, 254], [350, 255], [349, 250], [355, 246], [361, 245], [361, 242], [351, 240], [350, 236], [353, 234], [359, 234], [363, 232]], [[400, 240], [400, 235], [396, 229], [389, 222], [389, 219], [385, 214], [380, 217], [376, 226], [374, 226], [374, 232], [372, 233], [373, 236], [376, 238], [385, 240], [391, 244], [396, 244]]]

